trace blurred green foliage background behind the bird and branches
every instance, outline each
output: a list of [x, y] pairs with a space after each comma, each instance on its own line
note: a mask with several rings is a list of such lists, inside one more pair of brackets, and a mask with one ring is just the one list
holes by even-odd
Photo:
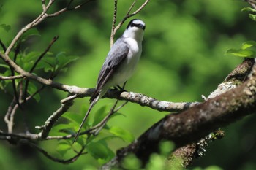
[[[68, 1], [56, 1], [50, 11], [64, 7]], [[79, 1], [75, 1], [78, 3]], [[120, 21], [132, 1], [118, 1]], [[140, 7], [138, 1], [134, 9]], [[143, 54], [134, 76], [127, 82], [126, 90], [143, 93], [163, 101], [203, 101], [201, 95], [208, 96], [217, 88], [227, 74], [232, 71], [242, 58], [225, 55], [230, 48], [239, 48], [243, 42], [255, 40], [255, 23], [248, 18], [249, 7], [239, 0], [185, 0], [185, 1], [150, 1], [135, 17], [146, 23], [143, 41]], [[40, 1], [0, 1], [0, 25], [9, 25], [10, 31], [0, 28], [0, 39], [9, 45], [15, 34], [42, 11]], [[131, 18], [131, 19], [133, 19]], [[42, 52], [48, 47], [53, 36], [58, 41], [50, 52], [65, 52], [67, 56], [79, 59], [69, 65], [67, 72], [56, 77], [56, 82], [94, 88], [99, 69], [110, 49], [110, 31], [113, 20], [113, 1], [92, 1], [78, 10], [64, 12], [43, 21], [37, 29], [41, 36], [33, 36], [26, 41], [22, 51]], [[125, 27], [118, 30], [116, 39]], [[2, 62], [2, 61], [1, 61]], [[43, 75], [41, 75], [43, 76]], [[42, 125], [47, 117], [60, 107], [60, 100], [67, 93], [50, 88], [42, 93], [39, 103], [29, 102], [29, 128]], [[6, 131], [4, 114], [12, 101], [0, 91], [0, 128]], [[80, 112], [88, 106], [89, 98], [75, 99], [71, 112]], [[102, 106], [111, 107], [114, 100], [102, 99], [93, 112]], [[120, 111], [125, 116], [117, 116], [109, 125], [117, 125], [140, 136], [147, 128], [164, 117], [166, 112], [157, 112], [138, 104], [127, 104]], [[18, 114], [18, 113], [17, 113]], [[16, 131], [23, 131], [23, 124], [16, 117]], [[222, 169], [256, 169], [256, 134], [255, 116], [245, 117], [223, 128], [225, 138], [217, 140], [207, 148], [206, 155], [195, 161], [193, 167], [202, 168], [217, 165]], [[116, 150], [128, 143], [113, 139], [110, 148]], [[42, 142], [42, 147], [57, 155], [54, 142]], [[27, 146], [12, 146], [8, 142], [0, 143], [1, 169], [90, 169], [99, 163], [88, 155], [69, 165], [55, 163], [39, 152]], [[68, 157], [68, 153], [67, 153]]]

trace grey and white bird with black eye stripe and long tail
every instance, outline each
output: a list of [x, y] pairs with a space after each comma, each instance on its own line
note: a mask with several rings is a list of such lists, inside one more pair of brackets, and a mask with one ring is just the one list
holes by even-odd
[[107, 93], [111, 87], [123, 85], [132, 76], [142, 53], [142, 41], [146, 25], [143, 20], [130, 20], [124, 34], [116, 40], [105, 58], [102, 69], [99, 71], [97, 85], [89, 100], [90, 106], [83, 117], [82, 123], [75, 134], [73, 144], [78, 139], [80, 130], [89, 116], [91, 109], [99, 98]]

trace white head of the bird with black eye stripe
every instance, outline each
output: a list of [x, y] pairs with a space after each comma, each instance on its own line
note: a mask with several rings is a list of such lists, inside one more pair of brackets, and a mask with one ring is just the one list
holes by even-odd
[[131, 20], [124, 31], [124, 37], [142, 40], [145, 28], [146, 25], [142, 20]]

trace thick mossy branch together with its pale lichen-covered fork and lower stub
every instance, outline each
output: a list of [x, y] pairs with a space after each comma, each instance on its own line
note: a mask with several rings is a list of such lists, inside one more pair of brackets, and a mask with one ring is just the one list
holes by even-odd
[[[130, 152], [146, 163], [152, 152], [158, 152], [159, 142], [162, 139], [175, 142], [177, 150], [173, 152], [173, 155], [182, 155], [186, 165], [189, 165], [195, 158], [194, 154], [197, 154], [197, 141], [204, 139], [204, 136], [207, 138], [211, 131], [255, 112], [256, 66], [254, 64], [254, 59], [246, 58], [233, 72], [228, 74], [222, 82], [223, 85], [219, 85], [214, 94], [211, 93], [212, 98], [184, 112], [170, 114], [159, 120], [135, 142], [118, 150], [116, 157], [102, 166], [102, 169], [117, 166], [121, 159]], [[244, 82], [249, 71], [252, 71], [252, 74], [249, 80]], [[185, 167], [186, 165], [184, 164]]]

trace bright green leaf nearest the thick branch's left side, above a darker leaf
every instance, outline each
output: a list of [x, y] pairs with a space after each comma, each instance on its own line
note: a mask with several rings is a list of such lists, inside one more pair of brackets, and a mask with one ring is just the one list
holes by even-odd
[[111, 134], [114, 134], [118, 137], [120, 137], [121, 139], [124, 140], [124, 142], [132, 142], [134, 141], [134, 136], [129, 133], [129, 131], [126, 131], [122, 128], [119, 128], [117, 126], [113, 126], [108, 130]]

